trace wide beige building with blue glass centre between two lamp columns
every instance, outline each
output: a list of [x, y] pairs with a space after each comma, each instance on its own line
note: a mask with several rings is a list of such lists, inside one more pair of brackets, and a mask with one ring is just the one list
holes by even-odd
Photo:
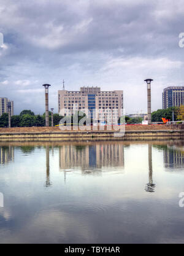
[[123, 90], [101, 91], [99, 87], [81, 87], [80, 91], [59, 90], [58, 112], [61, 113], [63, 109], [64, 115], [82, 111], [93, 117], [92, 113], [97, 109], [99, 112], [106, 111], [106, 115], [107, 111], [117, 112], [120, 117], [123, 109]]

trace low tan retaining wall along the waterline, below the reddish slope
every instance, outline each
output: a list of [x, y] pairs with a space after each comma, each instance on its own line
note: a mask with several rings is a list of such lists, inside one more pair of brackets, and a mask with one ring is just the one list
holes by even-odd
[[126, 130], [125, 136], [122, 137], [115, 137], [113, 131], [0, 133], [0, 141], [125, 141], [138, 139], [184, 139], [184, 130]]

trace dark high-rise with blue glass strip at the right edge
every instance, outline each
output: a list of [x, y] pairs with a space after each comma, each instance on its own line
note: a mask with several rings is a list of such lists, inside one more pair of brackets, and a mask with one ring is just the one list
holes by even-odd
[[167, 87], [163, 91], [163, 109], [184, 105], [184, 87]]

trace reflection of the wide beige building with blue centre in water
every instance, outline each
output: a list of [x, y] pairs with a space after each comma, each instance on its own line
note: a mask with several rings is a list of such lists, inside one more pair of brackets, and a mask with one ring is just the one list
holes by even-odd
[[103, 166], [124, 167], [124, 145], [63, 145], [59, 148], [59, 167], [64, 171], [80, 168], [87, 174], [101, 171]]

